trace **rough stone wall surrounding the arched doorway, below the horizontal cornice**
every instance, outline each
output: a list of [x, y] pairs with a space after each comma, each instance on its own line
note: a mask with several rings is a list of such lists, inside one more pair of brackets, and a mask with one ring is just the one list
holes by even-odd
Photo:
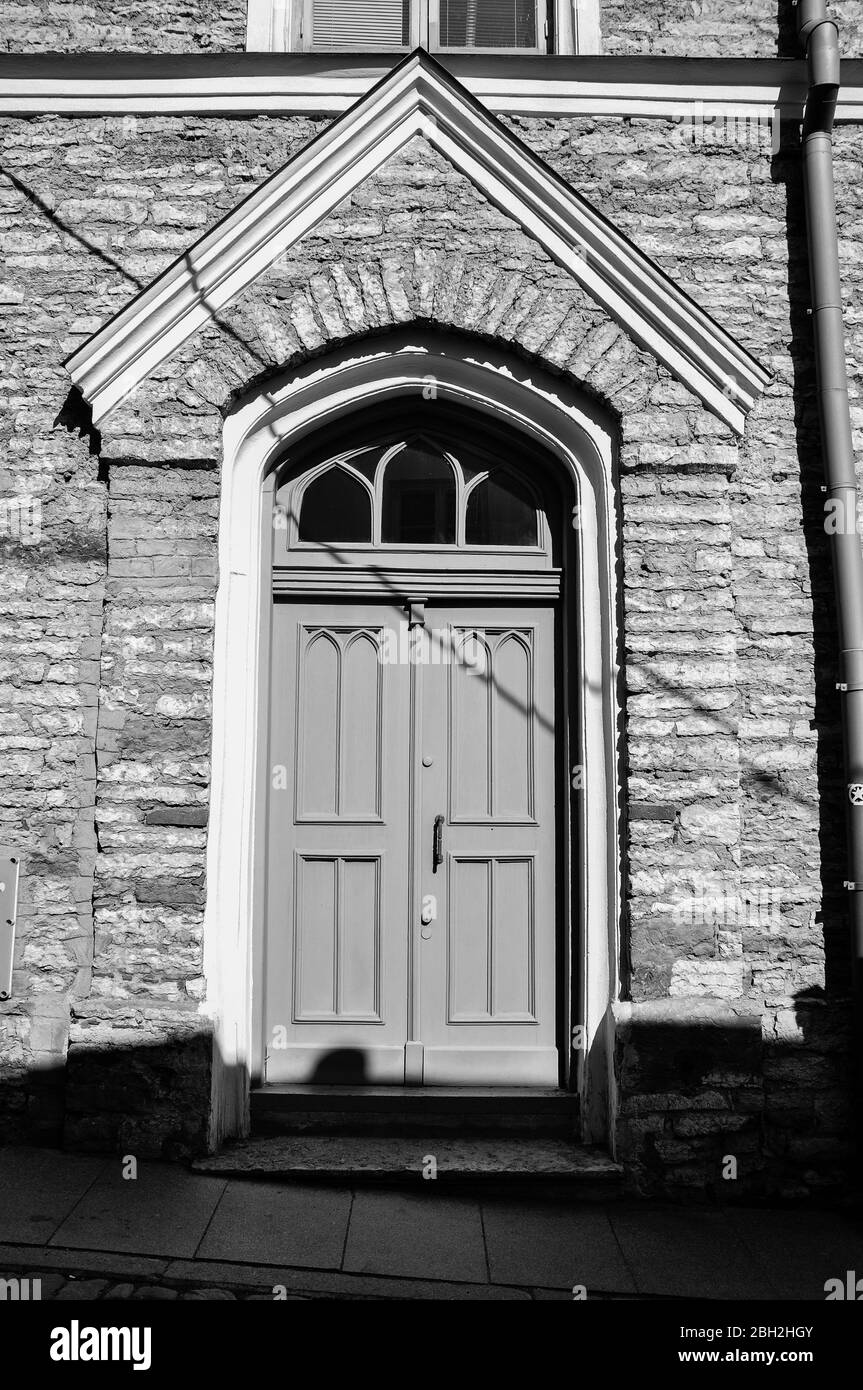
[[[739, 446], [422, 143], [100, 438], [63, 357], [318, 124], [0, 125], [4, 491], [42, 500], [40, 542], [6, 545], [17, 651], [0, 685], [6, 834], [25, 860], [0, 1101], [22, 1134], [65, 1123], [76, 1144], [203, 1141], [224, 413], [286, 364], [420, 320], [570, 374], [620, 424], [632, 1179], [730, 1194], [728, 1155], [741, 1191], [835, 1179], [849, 1094], [841, 745], [794, 132], [774, 154], [769, 139], [692, 143], [663, 121], [510, 124], [773, 371]], [[859, 430], [855, 129], [837, 163]], [[25, 1080], [36, 1062], [40, 1080]]]

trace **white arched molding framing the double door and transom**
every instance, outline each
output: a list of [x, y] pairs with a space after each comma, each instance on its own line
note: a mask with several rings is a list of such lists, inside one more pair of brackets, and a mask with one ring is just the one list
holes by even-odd
[[[261, 506], [278, 456], [313, 430], [368, 406], [420, 393], [432, 373], [439, 399], [470, 404], [527, 434], [568, 474], [580, 506], [567, 626], [580, 632], [570, 667], [573, 760], [582, 763], [581, 815], [570, 831], [580, 865], [571, 902], [567, 1020], [584, 1024], [575, 1079], [586, 1143], [613, 1144], [613, 1005], [618, 995], [620, 844], [617, 752], [616, 492], [613, 432], [602, 409], [566, 381], [485, 346], [416, 332], [342, 350], [286, 374], [228, 416], [220, 502], [220, 585], [213, 674], [213, 780], [202, 1012], [215, 1034], [210, 1144], [247, 1127], [254, 1073], [256, 934], [263, 930], [261, 781], [256, 749], [270, 599]], [[268, 503], [272, 505], [270, 488]]]

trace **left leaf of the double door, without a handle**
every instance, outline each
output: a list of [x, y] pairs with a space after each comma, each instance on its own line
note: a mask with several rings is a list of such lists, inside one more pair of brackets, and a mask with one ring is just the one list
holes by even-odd
[[277, 603], [267, 1081], [404, 1080], [410, 676], [389, 603]]

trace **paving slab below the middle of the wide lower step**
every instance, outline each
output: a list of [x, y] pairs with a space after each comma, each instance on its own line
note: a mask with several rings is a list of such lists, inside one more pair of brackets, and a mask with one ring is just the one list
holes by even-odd
[[434, 1193], [357, 1193], [343, 1268], [488, 1283], [479, 1204]]

